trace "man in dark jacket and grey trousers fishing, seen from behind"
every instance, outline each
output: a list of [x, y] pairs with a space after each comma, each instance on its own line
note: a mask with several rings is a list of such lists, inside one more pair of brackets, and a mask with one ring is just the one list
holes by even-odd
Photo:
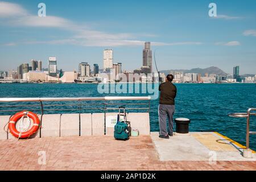
[[[160, 99], [158, 107], [159, 115], [159, 138], [169, 139], [173, 135], [174, 130], [174, 112], [175, 112], [175, 97], [177, 88], [172, 84], [173, 75], [167, 75], [166, 82], [159, 85]], [[168, 132], [166, 117], [168, 117]]]

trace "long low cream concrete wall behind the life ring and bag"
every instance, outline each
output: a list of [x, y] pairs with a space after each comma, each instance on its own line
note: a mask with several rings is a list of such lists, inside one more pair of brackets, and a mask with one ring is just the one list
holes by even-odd
[[[43, 137], [75, 137], [75, 136], [113, 136], [114, 128], [106, 127], [105, 118], [118, 113], [92, 114], [44, 114], [42, 128], [31, 138]], [[38, 115], [41, 118], [41, 115]], [[0, 139], [13, 139], [8, 131], [10, 115], [0, 116]], [[148, 113], [128, 113], [127, 121], [131, 122], [131, 129], [138, 129], [141, 135], [150, 135], [150, 117]], [[18, 125], [18, 123], [17, 123]]]

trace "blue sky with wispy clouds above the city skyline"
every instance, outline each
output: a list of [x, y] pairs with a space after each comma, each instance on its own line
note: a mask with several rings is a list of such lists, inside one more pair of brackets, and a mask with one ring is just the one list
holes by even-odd
[[[46, 3], [46, 17], [38, 4]], [[217, 18], [208, 15], [217, 5]], [[227, 73], [256, 73], [256, 1], [1, 1], [0, 70], [31, 59], [47, 67], [77, 69], [81, 61], [102, 67], [102, 52], [132, 71], [142, 65], [143, 42], [157, 49], [158, 68], [216, 66]]]

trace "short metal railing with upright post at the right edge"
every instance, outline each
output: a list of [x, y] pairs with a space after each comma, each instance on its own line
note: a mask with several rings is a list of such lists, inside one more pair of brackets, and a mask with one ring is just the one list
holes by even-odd
[[256, 131], [250, 131], [250, 116], [256, 115], [256, 113], [251, 113], [251, 111], [256, 111], [256, 108], [250, 108], [247, 110], [247, 113], [232, 113], [229, 114], [230, 117], [233, 118], [246, 118], [247, 124], [246, 124], [246, 149], [250, 149], [250, 135], [255, 135]]

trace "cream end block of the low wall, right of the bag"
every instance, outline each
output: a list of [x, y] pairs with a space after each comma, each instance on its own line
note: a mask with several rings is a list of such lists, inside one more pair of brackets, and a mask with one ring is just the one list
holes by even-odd
[[150, 135], [149, 113], [128, 113], [127, 121], [131, 122], [131, 130], [139, 130], [139, 135]]

